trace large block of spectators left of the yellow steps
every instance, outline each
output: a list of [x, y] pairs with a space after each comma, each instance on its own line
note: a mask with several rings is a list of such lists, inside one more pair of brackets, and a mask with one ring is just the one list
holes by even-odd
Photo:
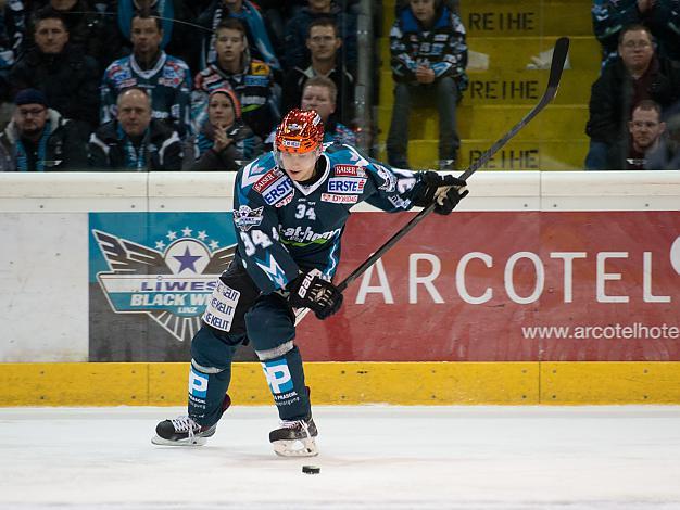
[[236, 170], [314, 79], [355, 141], [356, 3], [0, 0], [0, 171]]

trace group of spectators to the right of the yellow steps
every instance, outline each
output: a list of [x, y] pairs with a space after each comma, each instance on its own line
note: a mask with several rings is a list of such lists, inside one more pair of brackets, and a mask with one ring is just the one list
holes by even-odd
[[585, 169], [680, 169], [680, 2], [593, 0]]

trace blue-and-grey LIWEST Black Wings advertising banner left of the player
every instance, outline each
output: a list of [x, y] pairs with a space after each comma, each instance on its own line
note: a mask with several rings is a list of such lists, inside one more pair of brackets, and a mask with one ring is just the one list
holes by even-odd
[[235, 243], [230, 213], [90, 213], [89, 360], [189, 360]]

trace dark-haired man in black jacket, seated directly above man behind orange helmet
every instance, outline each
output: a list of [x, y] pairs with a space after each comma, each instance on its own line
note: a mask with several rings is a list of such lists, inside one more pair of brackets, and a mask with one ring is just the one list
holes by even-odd
[[353, 119], [354, 77], [338, 59], [342, 46], [335, 22], [329, 17], [319, 17], [310, 24], [306, 46], [311, 51], [311, 61], [306, 66], [293, 67], [284, 80], [284, 107], [288, 112], [300, 105], [302, 89], [307, 79], [325, 76], [336, 84], [338, 90], [338, 116], [350, 124]]

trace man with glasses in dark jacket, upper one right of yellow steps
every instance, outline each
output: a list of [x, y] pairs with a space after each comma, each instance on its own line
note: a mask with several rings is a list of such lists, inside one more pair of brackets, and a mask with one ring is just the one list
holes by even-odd
[[680, 66], [654, 54], [648, 28], [631, 25], [619, 36], [619, 56], [607, 65], [593, 84], [590, 118], [585, 132], [590, 149], [585, 168], [620, 168], [619, 154], [626, 153], [628, 119], [633, 105], [645, 99], [662, 110], [680, 99]]

